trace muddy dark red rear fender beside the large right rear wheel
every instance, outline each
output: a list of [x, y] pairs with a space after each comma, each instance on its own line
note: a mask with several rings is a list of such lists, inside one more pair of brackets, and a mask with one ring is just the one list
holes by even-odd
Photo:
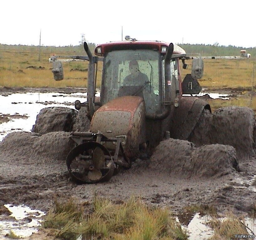
[[210, 105], [202, 99], [184, 96], [178, 98], [179, 107], [172, 111], [170, 137], [186, 140], [194, 130], [203, 109], [212, 111]]

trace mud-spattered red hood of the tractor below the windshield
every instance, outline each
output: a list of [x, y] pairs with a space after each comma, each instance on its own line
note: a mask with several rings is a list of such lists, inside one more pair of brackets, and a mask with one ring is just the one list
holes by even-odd
[[107, 138], [122, 136], [127, 156], [130, 158], [135, 155], [139, 144], [144, 143], [146, 139], [143, 98], [119, 97], [100, 107], [91, 120], [91, 132], [98, 131]]

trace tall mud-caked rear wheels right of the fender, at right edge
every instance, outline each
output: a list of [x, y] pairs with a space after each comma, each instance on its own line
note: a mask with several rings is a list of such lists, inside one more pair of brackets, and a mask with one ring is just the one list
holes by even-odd
[[197, 146], [220, 143], [236, 149], [239, 159], [254, 154], [256, 123], [253, 110], [247, 107], [219, 108], [213, 114], [205, 110], [189, 141]]

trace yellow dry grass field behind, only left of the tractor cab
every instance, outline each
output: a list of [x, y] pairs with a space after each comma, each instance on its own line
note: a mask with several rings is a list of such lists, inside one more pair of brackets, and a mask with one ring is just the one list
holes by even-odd
[[[58, 49], [58, 48], [57, 48]], [[56, 49], [55, 49], [56, 50]], [[61, 49], [63, 50], [63, 49]], [[64, 63], [64, 80], [54, 81], [51, 72], [52, 63], [48, 59], [52, 52], [50, 48], [45, 49], [41, 54], [41, 61], [38, 61], [36, 48], [20, 46], [17, 49], [12, 46], [0, 45], [0, 87], [86, 87], [87, 72], [79, 71], [88, 68], [88, 62]], [[85, 52], [57, 52], [56, 55], [86, 55]], [[27, 68], [39, 66], [44, 69]], [[71, 69], [78, 69], [71, 71]], [[98, 65], [97, 79], [101, 79], [102, 63]], [[100, 87], [98, 81], [97, 87]]]

